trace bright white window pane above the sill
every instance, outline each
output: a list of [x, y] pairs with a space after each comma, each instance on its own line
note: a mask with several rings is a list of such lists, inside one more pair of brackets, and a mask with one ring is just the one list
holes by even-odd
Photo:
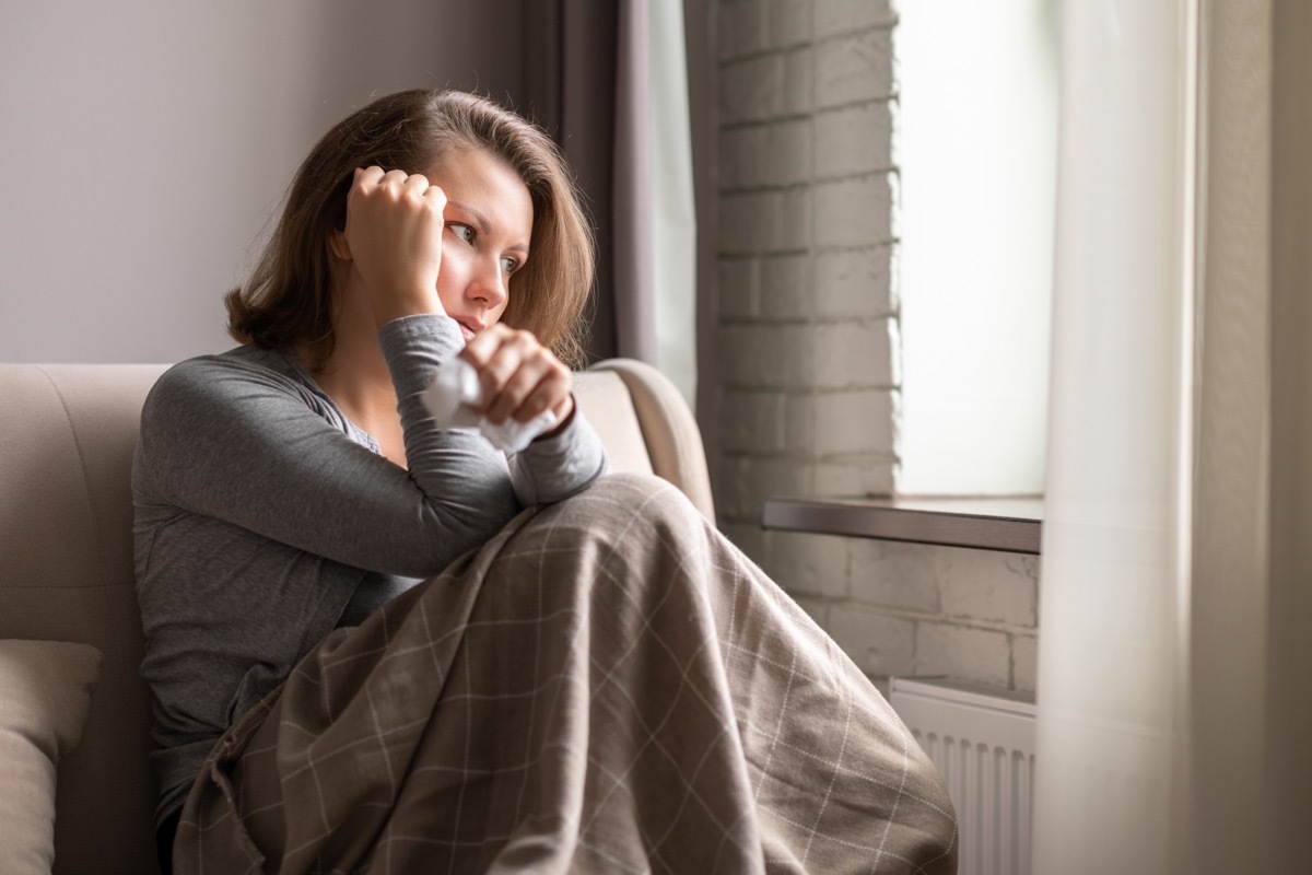
[[900, 4], [900, 495], [1043, 491], [1057, 20]]

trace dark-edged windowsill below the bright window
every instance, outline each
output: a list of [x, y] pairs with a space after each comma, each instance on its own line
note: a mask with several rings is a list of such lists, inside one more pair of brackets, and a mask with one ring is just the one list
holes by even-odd
[[775, 497], [765, 501], [761, 526], [1038, 555], [1043, 499]]

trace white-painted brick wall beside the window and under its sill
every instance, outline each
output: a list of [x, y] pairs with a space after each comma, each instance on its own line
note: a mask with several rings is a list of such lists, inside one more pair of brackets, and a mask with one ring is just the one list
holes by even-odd
[[773, 495], [887, 495], [899, 407], [888, 0], [719, 3], [722, 527], [876, 683], [1033, 690], [1034, 556], [764, 531]]

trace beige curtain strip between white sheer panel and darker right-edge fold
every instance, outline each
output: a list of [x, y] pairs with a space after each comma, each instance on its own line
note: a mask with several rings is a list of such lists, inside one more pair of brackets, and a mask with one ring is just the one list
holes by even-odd
[[1237, 872], [1252, 871], [1266, 816], [1270, 1], [1206, 4], [1202, 25], [1187, 868]]

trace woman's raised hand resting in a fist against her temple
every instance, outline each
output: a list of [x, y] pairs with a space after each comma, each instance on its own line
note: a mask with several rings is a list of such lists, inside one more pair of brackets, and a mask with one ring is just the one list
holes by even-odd
[[379, 327], [445, 312], [437, 295], [445, 209], [446, 194], [420, 173], [356, 169], [333, 252], [354, 264]]

